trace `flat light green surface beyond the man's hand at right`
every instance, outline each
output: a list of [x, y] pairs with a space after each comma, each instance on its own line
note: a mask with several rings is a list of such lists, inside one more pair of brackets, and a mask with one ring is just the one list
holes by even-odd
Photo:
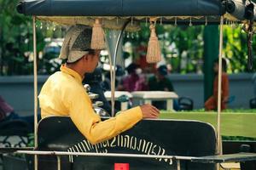
[[[226, 110], [221, 113], [221, 134], [224, 140], [256, 140], [253, 122], [255, 110]], [[217, 111], [160, 111], [162, 119], [195, 120], [212, 124], [215, 129], [218, 126]]]

